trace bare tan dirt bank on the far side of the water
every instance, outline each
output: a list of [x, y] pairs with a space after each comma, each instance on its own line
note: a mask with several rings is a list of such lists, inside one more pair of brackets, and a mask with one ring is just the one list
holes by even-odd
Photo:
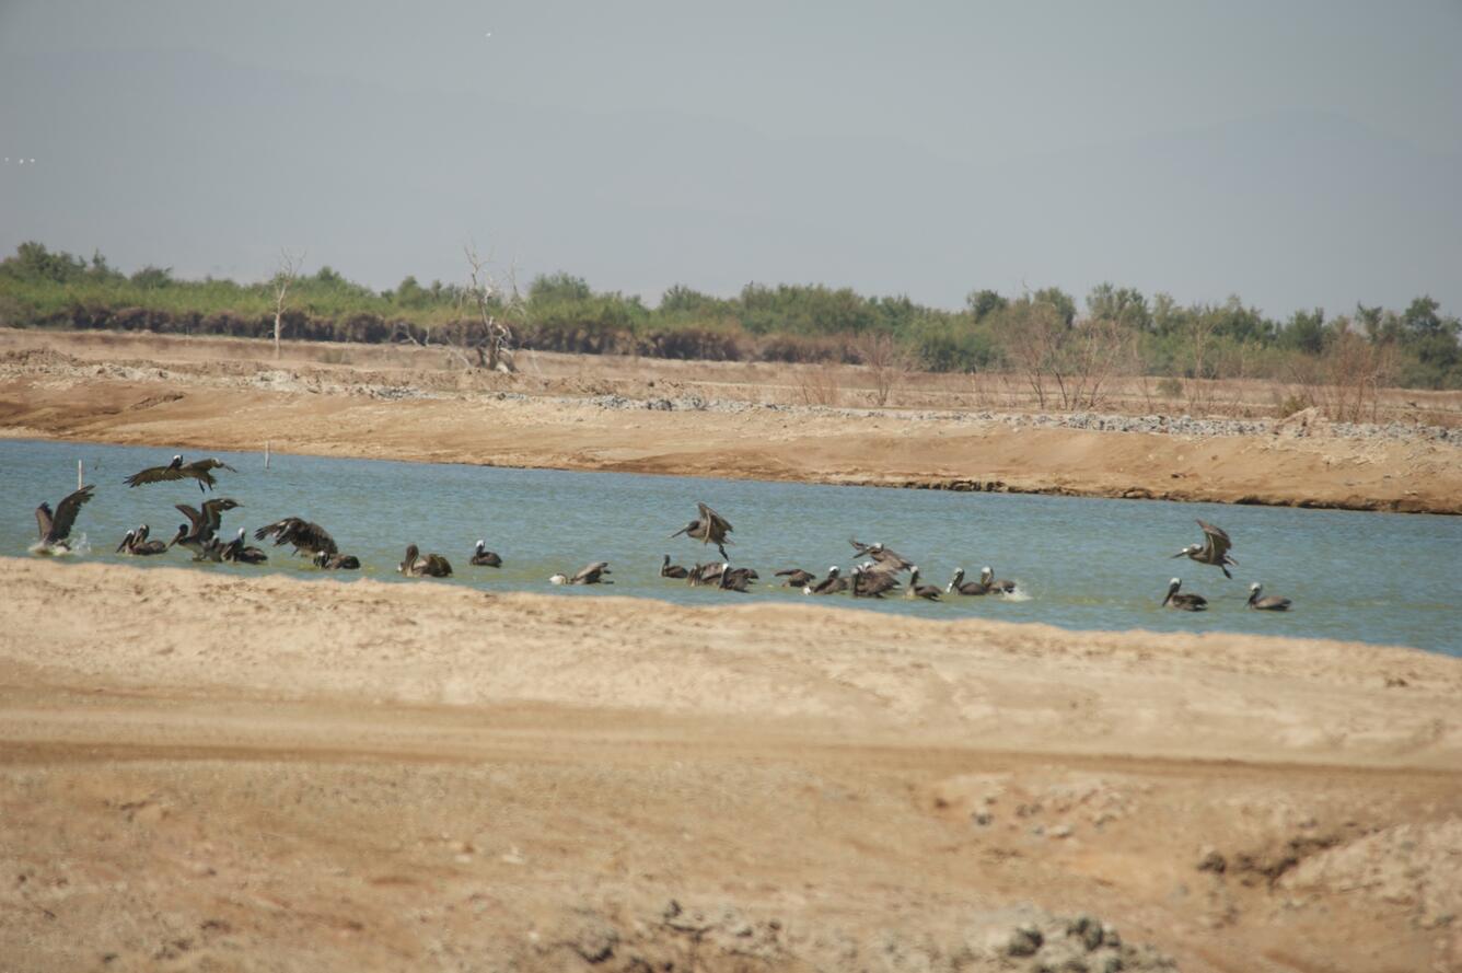
[[[0, 436], [200, 451], [262, 449], [268, 439], [279, 452], [335, 457], [1462, 512], [1462, 448], [1415, 437], [642, 407], [690, 395], [785, 404], [806, 379], [801, 366], [539, 353], [507, 376], [447, 370], [439, 351], [421, 348], [301, 342], [279, 363], [266, 356], [257, 341], [0, 331]], [[630, 401], [607, 408], [592, 395]], [[1433, 399], [1433, 411], [1455, 408]]]

